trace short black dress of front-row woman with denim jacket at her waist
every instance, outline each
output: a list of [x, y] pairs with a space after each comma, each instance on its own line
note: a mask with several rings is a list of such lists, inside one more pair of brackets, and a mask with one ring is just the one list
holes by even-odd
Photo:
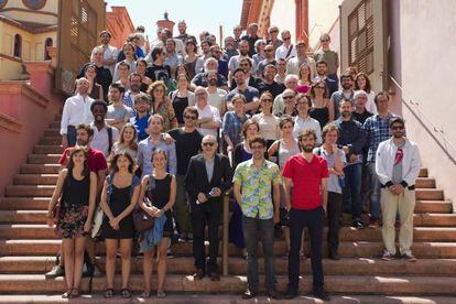
[[[149, 175], [149, 186], [145, 192], [145, 196], [152, 202], [152, 206], [154, 206], [158, 209], [162, 209], [167, 202], [170, 200], [170, 191], [171, 191], [171, 181], [173, 180], [173, 175], [170, 173], [166, 173], [165, 177], [162, 180], [153, 178], [154, 186], [151, 186], [150, 181], [151, 175]], [[171, 238], [174, 232], [173, 227], [173, 216], [171, 210], [165, 211], [164, 216], [166, 217], [166, 221], [163, 226], [163, 237], [164, 238]], [[152, 230], [154, 228], [151, 228]], [[149, 230], [148, 230], [149, 231]], [[144, 238], [148, 238], [151, 234], [148, 234], [148, 231], [144, 232]], [[141, 242], [141, 251], [146, 251], [153, 249], [152, 246], [149, 246], [148, 243], [151, 243], [150, 241], [142, 241]]]

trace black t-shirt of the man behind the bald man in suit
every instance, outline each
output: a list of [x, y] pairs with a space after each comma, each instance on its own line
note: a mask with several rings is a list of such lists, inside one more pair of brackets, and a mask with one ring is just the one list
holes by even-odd
[[185, 175], [189, 160], [199, 153], [203, 135], [197, 131], [187, 133], [183, 128], [167, 132], [176, 142], [177, 174]]

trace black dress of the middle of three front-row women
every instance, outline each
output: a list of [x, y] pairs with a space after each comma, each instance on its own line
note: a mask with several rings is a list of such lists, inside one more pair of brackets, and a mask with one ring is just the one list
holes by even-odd
[[[108, 205], [112, 215], [116, 217], [123, 213], [123, 210], [130, 205], [130, 192], [132, 191], [132, 185], [123, 188], [118, 188], [113, 184], [111, 184], [111, 186], [112, 193]], [[134, 237], [132, 213], [120, 220], [119, 230], [112, 229], [111, 225], [109, 225], [109, 218], [105, 215], [101, 226], [101, 236], [105, 239], [132, 239]]]

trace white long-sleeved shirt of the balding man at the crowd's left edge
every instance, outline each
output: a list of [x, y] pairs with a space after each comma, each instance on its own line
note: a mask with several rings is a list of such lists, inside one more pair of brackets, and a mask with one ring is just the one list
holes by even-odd
[[79, 94], [69, 97], [65, 100], [61, 121], [61, 135], [67, 133], [68, 126], [76, 127], [79, 123], [90, 123], [94, 121], [94, 116], [90, 111], [91, 99], [87, 96], [85, 99]]

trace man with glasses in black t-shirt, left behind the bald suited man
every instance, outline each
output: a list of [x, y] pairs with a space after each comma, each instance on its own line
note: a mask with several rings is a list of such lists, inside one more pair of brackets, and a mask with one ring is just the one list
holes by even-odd
[[189, 218], [188, 202], [184, 187], [185, 174], [187, 172], [189, 160], [198, 154], [203, 135], [196, 130], [198, 111], [195, 108], [187, 107], [184, 110], [184, 127], [169, 131], [176, 145], [177, 174], [176, 174], [176, 202], [174, 204], [174, 215], [177, 225], [177, 231], [182, 240], [192, 240], [192, 225]]

